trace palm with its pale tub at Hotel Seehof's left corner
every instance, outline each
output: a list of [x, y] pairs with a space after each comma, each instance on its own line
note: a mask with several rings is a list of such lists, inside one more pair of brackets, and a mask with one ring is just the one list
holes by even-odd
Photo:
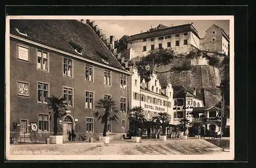
[[130, 124], [135, 128], [135, 136], [132, 136], [132, 142], [139, 143], [139, 129], [143, 129], [143, 122], [145, 121], [144, 115], [142, 114], [142, 107], [135, 106], [132, 108], [132, 114], [129, 117]]

